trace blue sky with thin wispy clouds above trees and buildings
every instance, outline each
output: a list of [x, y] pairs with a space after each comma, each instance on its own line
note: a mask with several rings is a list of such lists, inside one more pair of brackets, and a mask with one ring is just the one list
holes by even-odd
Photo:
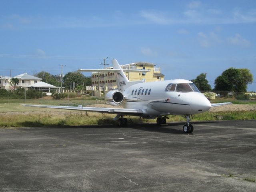
[[256, 91], [256, 1], [0, 1], [0, 75], [102, 68], [104, 57], [154, 63], [165, 80], [207, 73], [212, 88], [248, 68]]

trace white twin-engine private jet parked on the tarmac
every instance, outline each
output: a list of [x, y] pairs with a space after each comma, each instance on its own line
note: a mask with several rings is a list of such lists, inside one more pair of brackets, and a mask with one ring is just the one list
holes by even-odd
[[194, 128], [190, 123], [190, 115], [208, 111], [211, 107], [232, 103], [211, 104], [198, 90], [195, 84], [184, 79], [145, 82], [145, 80], [129, 81], [116, 59], [112, 60], [113, 69], [79, 69], [81, 72], [115, 72], [118, 90], [106, 94], [106, 101], [113, 106], [122, 105], [123, 108], [96, 108], [71, 106], [43, 106], [26, 105], [29, 107], [57, 108], [82, 110], [89, 112], [117, 114], [119, 126], [127, 125], [124, 116], [140, 116], [147, 119], [156, 119], [156, 123], [166, 124], [168, 115], [181, 115], [186, 118], [183, 126], [184, 133], [192, 133]]

